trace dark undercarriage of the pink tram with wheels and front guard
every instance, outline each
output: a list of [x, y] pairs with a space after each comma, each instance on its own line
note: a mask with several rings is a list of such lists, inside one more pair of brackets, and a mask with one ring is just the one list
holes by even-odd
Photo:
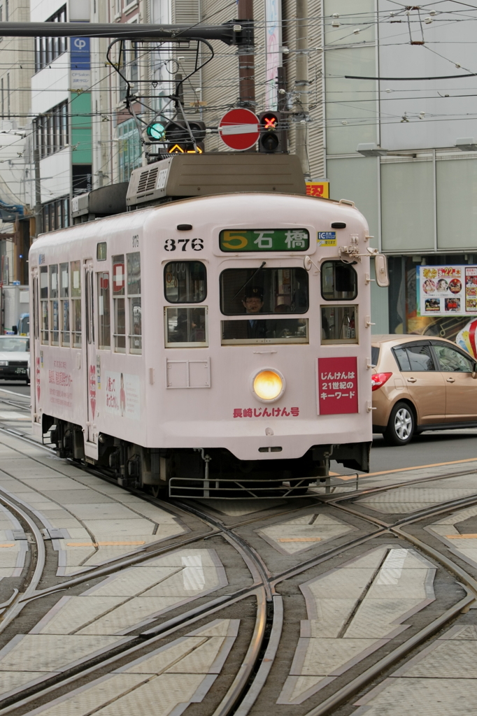
[[[60, 458], [92, 463], [85, 458], [80, 425], [43, 415], [44, 442]], [[49, 439], [48, 439], [49, 438]], [[369, 472], [370, 442], [313, 445], [296, 460], [238, 460], [226, 448], [143, 448], [100, 433], [94, 461], [124, 487], [143, 488], [154, 495], [211, 498], [267, 497], [304, 493], [310, 483], [329, 477], [329, 461]], [[274, 448], [269, 448], [271, 452]]]

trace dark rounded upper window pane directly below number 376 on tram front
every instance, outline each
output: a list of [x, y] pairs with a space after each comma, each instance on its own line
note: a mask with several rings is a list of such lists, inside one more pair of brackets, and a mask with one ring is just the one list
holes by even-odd
[[164, 267], [164, 295], [170, 304], [200, 304], [207, 296], [207, 270], [201, 261], [171, 261]]

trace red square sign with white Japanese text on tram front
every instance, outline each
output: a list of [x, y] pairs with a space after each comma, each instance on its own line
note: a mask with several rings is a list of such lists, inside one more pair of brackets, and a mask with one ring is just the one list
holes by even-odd
[[357, 359], [318, 359], [319, 415], [358, 412]]

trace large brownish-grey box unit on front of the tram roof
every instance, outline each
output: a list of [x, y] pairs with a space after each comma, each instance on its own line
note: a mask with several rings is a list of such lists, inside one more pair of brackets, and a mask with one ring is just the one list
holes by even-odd
[[133, 170], [126, 204], [249, 191], [305, 195], [299, 158], [258, 152], [175, 154]]

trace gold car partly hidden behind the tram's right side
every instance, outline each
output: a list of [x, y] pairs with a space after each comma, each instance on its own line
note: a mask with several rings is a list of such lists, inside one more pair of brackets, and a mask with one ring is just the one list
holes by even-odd
[[477, 426], [477, 363], [443, 338], [372, 337], [372, 424], [391, 445]]

